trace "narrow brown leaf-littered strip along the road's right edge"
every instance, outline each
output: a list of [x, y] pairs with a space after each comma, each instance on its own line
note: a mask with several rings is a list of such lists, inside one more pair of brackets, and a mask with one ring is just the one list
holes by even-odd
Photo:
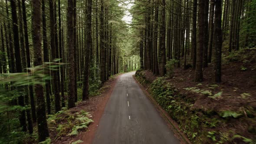
[[174, 132], [174, 136], [176, 136], [181, 141], [181, 144], [192, 144], [187, 138], [187, 136], [180, 130], [178, 124], [167, 114], [166, 111], [164, 111], [163, 108], [161, 108], [160, 105], [158, 105], [154, 98], [151, 97], [147, 89], [143, 85], [141, 85], [140, 82], [138, 82], [135, 75], [132, 75], [132, 77], [133, 79], [135, 79], [135, 82], [140, 86], [144, 94], [148, 96], [152, 104], [157, 108], [159, 114], [161, 115], [162, 118], [164, 118], [164, 121], [166, 121], [167, 124], [170, 126], [171, 130]]

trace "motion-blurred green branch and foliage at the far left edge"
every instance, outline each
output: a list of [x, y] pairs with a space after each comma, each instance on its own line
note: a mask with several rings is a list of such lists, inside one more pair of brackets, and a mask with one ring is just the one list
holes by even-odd
[[[26, 95], [27, 85], [44, 84], [46, 80], [51, 79], [47, 75], [48, 70], [54, 70], [61, 66], [58, 60], [55, 62], [46, 62], [43, 65], [28, 68], [29, 73], [3, 73], [0, 74], [0, 143], [17, 144], [26, 143], [26, 141], [35, 139], [28, 133], [22, 132], [20, 128], [20, 111], [30, 110], [30, 105], [20, 106], [11, 104], [16, 101], [20, 95]], [[8, 87], [15, 87], [14, 90]]]

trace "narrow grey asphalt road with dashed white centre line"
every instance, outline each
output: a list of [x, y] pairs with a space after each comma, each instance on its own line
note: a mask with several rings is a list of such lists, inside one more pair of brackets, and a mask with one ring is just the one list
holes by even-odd
[[93, 144], [179, 144], [134, 74], [125, 73], [117, 80]]

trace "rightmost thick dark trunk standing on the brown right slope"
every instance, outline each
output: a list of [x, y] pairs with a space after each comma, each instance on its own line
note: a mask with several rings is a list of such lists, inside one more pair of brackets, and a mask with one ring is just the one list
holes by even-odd
[[214, 81], [221, 82], [221, 49], [222, 49], [222, 30], [221, 30], [221, 2], [215, 0], [215, 20], [214, 20]]

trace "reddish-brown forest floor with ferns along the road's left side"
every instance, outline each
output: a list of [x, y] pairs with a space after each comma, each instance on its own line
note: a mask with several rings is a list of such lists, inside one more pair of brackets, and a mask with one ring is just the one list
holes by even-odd
[[[89, 100], [87, 101], [80, 101], [77, 103], [76, 107], [57, 115], [56, 117], [59, 119], [58, 121], [55, 120], [54, 124], [48, 122], [50, 138], [53, 144], [72, 144], [73, 142], [91, 144], [98, 127], [99, 120], [104, 112], [105, 105], [111, 96], [112, 90], [119, 76], [119, 74], [114, 75], [107, 82], [105, 82], [104, 85], [102, 85], [102, 87], [98, 90], [100, 95], [89, 97]], [[63, 127], [61, 130], [59, 130], [59, 125], [71, 125], [74, 123], [74, 118], [81, 118], [81, 115], [78, 115], [81, 114], [81, 111], [85, 111], [87, 118], [91, 119], [93, 122], [89, 122], [86, 127], [79, 129], [76, 134], [72, 135], [69, 134], [73, 129], [70, 126], [66, 128]], [[69, 120], [67, 117], [72, 117], [72, 119]]]

